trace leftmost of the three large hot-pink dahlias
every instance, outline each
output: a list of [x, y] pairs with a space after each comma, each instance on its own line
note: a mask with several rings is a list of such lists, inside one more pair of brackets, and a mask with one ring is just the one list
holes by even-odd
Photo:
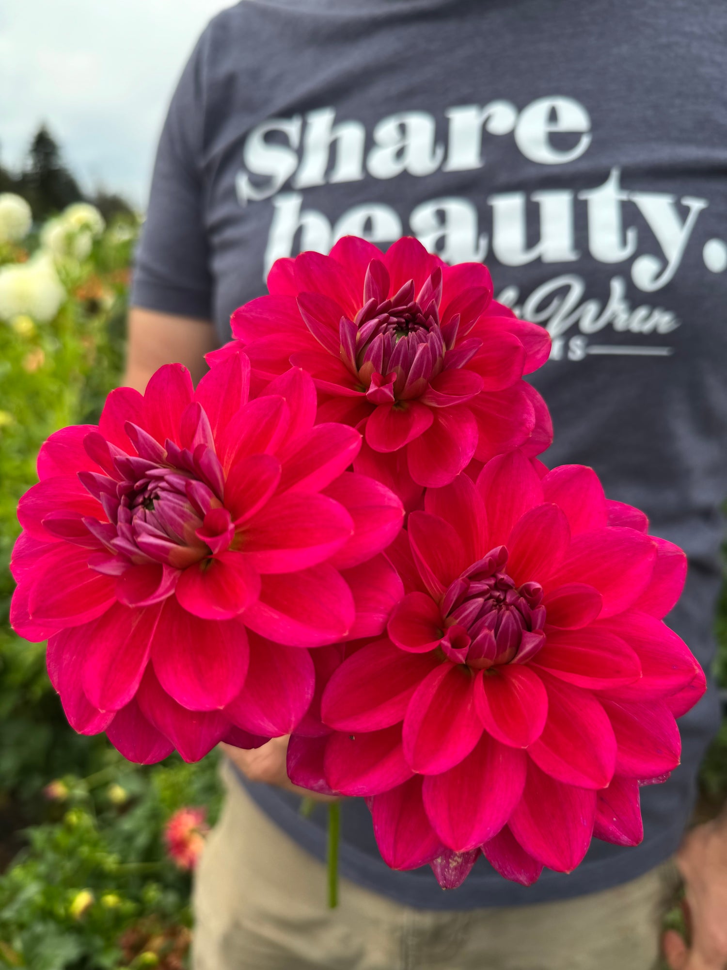
[[300, 648], [383, 630], [392, 606], [403, 509], [345, 470], [361, 436], [314, 425], [300, 370], [248, 386], [237, 354], [196, 391], [179, 365], [112, 391], [98, 427], [48, 438], [19, 503], [12, 623], [48, 638], [72, 727], [130, 760], [288, 733], [314, 690]]

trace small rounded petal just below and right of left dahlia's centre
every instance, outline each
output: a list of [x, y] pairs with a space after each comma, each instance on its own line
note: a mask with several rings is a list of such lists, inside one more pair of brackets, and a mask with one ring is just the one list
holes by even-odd
[[250, 558], [227, 550], [184, 569], [174, 593], [190, 614], [230, 620], [258, 598], [260, 576]]

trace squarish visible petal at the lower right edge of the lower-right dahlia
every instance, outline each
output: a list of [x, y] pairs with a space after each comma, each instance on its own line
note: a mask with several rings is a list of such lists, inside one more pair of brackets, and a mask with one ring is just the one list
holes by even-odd
[[616, 734], [616, 773], [655, 778], [680, 763], [681, 740], [674, 715], [663, 700], [647, 703], [602, 701]]

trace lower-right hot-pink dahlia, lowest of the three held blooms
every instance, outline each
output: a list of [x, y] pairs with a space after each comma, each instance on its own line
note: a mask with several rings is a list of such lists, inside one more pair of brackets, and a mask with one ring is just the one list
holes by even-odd
[[480, 853], [529, 885], [593, 835], [638, 844], [639, 786], [679, 764], [675, 718], [705, 690], [661, 619], [685, 556], [647, 527], [591, 469], [519, 451], [427, 490], [387, 553], [388, 636], [328, 648], [292, 780], [366, 797], [385, 861], [445, 887]]

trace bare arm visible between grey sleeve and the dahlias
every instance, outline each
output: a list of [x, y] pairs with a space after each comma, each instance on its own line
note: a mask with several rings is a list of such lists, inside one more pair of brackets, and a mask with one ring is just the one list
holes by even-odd
[[143, 392], [152, 373], [177, 362], [196, 384], [206, 371], [205, 353], [216, 345], [214, 327], [206, 320], [132, 307], [123, 383]]

